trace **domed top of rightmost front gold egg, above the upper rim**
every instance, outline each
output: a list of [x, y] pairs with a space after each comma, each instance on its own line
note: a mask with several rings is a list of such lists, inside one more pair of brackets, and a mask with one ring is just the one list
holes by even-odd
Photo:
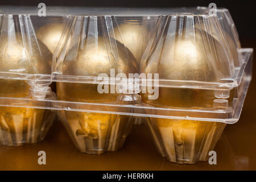
[[229, 77], [229, 57], [213, 37], [206, 42], [207, 36], [210, 35], [206, 32], [196, 32], [189, 39], [166, 38], [163, 46], [147, 60], [143, 72], [159, 73], [161, 79], [184, 81], [220, 81]]

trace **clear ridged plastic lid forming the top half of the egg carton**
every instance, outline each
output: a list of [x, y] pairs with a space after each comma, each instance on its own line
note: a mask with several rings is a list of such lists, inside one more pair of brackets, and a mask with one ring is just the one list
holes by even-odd
[[[122, 56], [133, 60], [134, 56], [139, 69], [131, 73], [158, 73], [159, 86], [209, 89], [216, 86], [232, 88], [240, 84], [246, 64], [246, 56], [243, 55], [250, 50], [241, 48], [236, 27], [226, 9], [218, 9], [216, 15], [209, 15], [208, 9], [204, 7], [152, 11], [95, 8], [73, 8], [65, 11], [66, 9], [49, 7], [47, 16], [39, 17], [33, 13], [35, 10], [32, 7], [19, 8], [18, 11], [15, 7], [2, 8], [2, 51], [10, 52], [10, 45], [17, 44], [22, 50], [17, 53], [24, 59], [42, 64], [36, 69], [34, 68], [37, 66], [26, 68], [25, 62], [19, 64], [19, 68], [15, 65], [5, 67], [1, 69], [2, 77], [92, 82], [97, 80], [96, 73], [101, 72], [100, 70], [93, 74], [62, 71], [68, 63], [64, 57], [69, 59], [84, 49], [84, 44], [94, 42], [90, 47], [104, 46], [104, 51], [109, 56], [108, 61], [112, 64], [111, 68], [123, 72], [123, 65], [118, 60]], [[16, 14], [11, 14], [14, 11]], [[80, 15], [82, 12], [84, 15]], [[147, 13], [147, 16], [143, 15]], [[50, 30], [54, 38], [47, 34]], [[51, 43], [48, 41], [50, 39]], [[137, 45], [134, 46], [134, 42]], [[122, 49], [121, 45], [127, 49]], [[51, 63], [50, 57], [54, 51]], [[133, 64], [130, 62], [133, 61], [126, 61], [127, 64]], [[52, 64], [51, 72], [49, 67]], [[113, 64], [116, 65], [113, 67]], [[30, 67], [33, 65], [30, 64]], [[58, 76], [52, 77], [51, 73], [57, 73]], [[136, 79], [141, 84], [145, 81], [142, 76], [133, 80]]]

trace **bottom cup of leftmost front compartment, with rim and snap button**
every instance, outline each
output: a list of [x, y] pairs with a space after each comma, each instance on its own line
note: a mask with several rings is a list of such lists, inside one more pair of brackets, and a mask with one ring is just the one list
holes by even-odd
[[[55, 93], [44, 84], [31, 86], [27, 96], [1, 97], [0, 144], [22, 146], [42, 141], [56, 116], [54, 110], [46, 109], [52, 107], [47, 100], [55, 99]], [[37, 100], [41, 101], [40, 106], [36, 105]]]

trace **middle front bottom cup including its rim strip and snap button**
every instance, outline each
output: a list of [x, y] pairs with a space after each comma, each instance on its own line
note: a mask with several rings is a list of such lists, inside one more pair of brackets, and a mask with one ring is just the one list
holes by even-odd
[[[134, 123], [134, 116], [131, 114], [133, 106], [140, 103], [141, 97], [138, 94], [120, 94], [117, 101], [113, 102], [57, 101], [53, 105], [60, 108], [59, 117], [81, 152], [104, 154], [123, 146]], [[130, 110], [130, 114], [122, 114], [122, 108], [115, 104], [124, 105], [125, 110]]]

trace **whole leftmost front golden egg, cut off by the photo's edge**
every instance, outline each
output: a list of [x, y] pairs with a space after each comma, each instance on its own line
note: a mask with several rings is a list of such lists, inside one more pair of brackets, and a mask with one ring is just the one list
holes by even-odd
[[[19, 34], [16, 38], [21, 37]], [[31, 39], [29, 45], [22, 40], [9, 40], [8, 36], [1, 36], [0, 41], [0, 70], [14, 73], [50, 74], [52, 54], [48, 48], [38, 40]], [[31, 97], [30, 85], [26, 80], [0, 79], [1, 97]], [[5, 140], [2, 144], [19, 146], [23, 143], [38, 142], [42, 133], [44, 109], [25, 107], [0, 108], [0, 133]]]

